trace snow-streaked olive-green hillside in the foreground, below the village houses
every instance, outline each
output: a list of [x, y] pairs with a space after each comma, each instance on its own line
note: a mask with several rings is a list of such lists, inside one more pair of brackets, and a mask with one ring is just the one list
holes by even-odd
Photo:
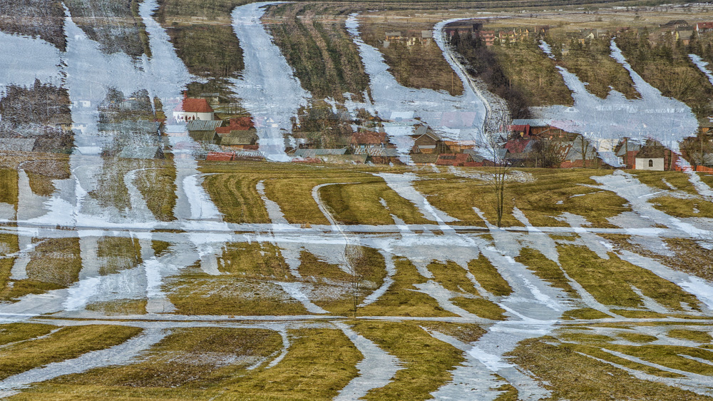
[[711, 203], [690, 174], [513, 172], [496, 228], [483, 169], [200, 171], [218, 220], [4, 229], [4, 394], [707, 397], [713, 215], [658, 203]]

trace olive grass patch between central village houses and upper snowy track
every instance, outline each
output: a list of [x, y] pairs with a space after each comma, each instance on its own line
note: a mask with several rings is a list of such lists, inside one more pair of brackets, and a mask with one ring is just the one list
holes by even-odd
[[[394, 168], [387, 171], [403, 171]], [[406, 223], [429, 223], [407, 200], [401, 198], [384, 180], [371, 172], [384, 168], [327, 168], [300, 165], [252, 163], [202, 163], [206, 177], [203, 186], [225, 220], [231, 223], [267, 223], [267, 210], [255, 186], [264, 181], [267, 198], [275, 201], [289, 223], [329, 224], [312, 198], [312, 189], [325, 183], [354, 183], [326, 186], [320, 197], [332, 210], [334, 218], [347, 224], [393, 224], [391, 214]], [[358, 194], [358, 196], [354, 196]], [[381, 199], [387, 208], [381, 205]]]

